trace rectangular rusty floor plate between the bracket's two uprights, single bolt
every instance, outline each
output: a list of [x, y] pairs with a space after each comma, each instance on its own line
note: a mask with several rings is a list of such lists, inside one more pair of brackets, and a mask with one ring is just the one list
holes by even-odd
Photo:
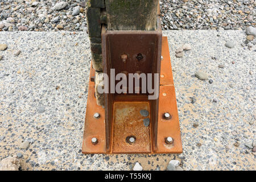
[[[149, 102], [114, 102], [113, 106], [113, 153], [150, 153], [150, 127], [143, 125], [144, 118], [141, 110], [150, 112]], [[136, 140], [130, 144], [126, 141], [129, 136]]]

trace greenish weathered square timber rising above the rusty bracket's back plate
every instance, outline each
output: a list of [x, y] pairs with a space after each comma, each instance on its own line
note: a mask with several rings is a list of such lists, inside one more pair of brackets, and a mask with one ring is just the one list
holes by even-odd
[[158, 0], [106, 0], [108, 30], [156, 30]]

